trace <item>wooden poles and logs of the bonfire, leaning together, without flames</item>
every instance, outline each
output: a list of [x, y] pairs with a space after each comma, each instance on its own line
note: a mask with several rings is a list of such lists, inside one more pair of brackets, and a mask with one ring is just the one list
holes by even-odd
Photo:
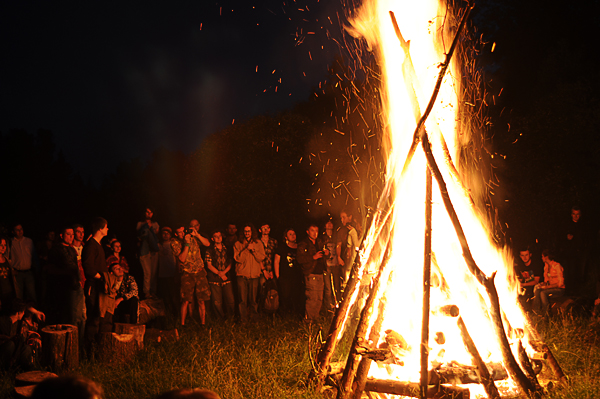
[[[437, 98], [441, 82], [448, 65], [450, 64], [451, 57], [454, 53], [458, 38], [465, 26], [465, 22], [472, 9], [472, 5], [469, 5], [461, 18], [460, 24], [456, 31], [454, 40], [450, 47], [450, 50], [446, 54], [446, 59], [442, 64], [441, 71], [438, 75], [438, 81], [434, 89], [434, 93], [431, 96], [425, 113], [417, 120], [417, 127], [414, 133], [413, 145], [408, 153], [404, 170], [410, 163], [412, 155], [416, 150], [416, 147], [421, 144], [425, 152], [427, 159], [428, 170], [426, 173], [426, 226], [425, 226], [425, 256], [424, 256], [424, 273], [423, 273], [423, 318], [422, 318], [422, 331], [421, 331], [421, 343], [420, 343], [420, 381], [419, 383], [414, 382], [401, 382], [401, 381], [389, 381], [389, 380], [374, 380], [368, 379], [367, 375], [371, 362], [376, 361], [389, 361], [394, 358], [394, 346], [402, 347], [402, 337], [395, 336], [391, 330], [386, 331], [386, 341], [389, 344], [387, 347], [374, 347], [379, 341], [381, 332], [383, 310], [386, 306], [385, 298], [379, 300], [376, 304], [377, 298], [382, 297], [380, 290], [385, 287], [385, 282], [381, 282], [384, 269], [387, 267], [387, 261], [389, 258], [389, 247], [385, 249], [385, 255], [379, 266], [377, 275], [371, 282], [370, 293], [366, 299], [366, 303], [362, 308], [360, 319], [356, 331], [354, 333], [354, 339], [348, 358], [344, 364], [331, 363], [333, 352], [335, 351], [336, 345], [339, 340], [340, 331], [343, 329], [347, 314], [350, 311], [352, 304], [352, 298], [356, 297], [357, 291], [361, 287], [361, 279], [364, 273], [364, 265], [361, 265], [357, 261], [353, 265], [351, 277], [346, 286], [344, 296], [340, 302], [336, 314], [332, 320], [329, 332], [326, 336], [325, 342], [321, 346], [319, 354], [316, 359], [316, 367], [311, 372], [310, 380], [316, 385], [318, 389], [325, 385], [326, 379], [329, 377], [337, 386], [337, 399], [359, 399], [363, 392], [379, 392], [394, 395], [403, 395], [410, 397], [418, 397], [421, 399], [425, 398], [469, 398], [470, 391], [468, 388], [463, 386], [457, 386], [457, 384], [482, 384], [485, 388], [486, 394], [489, 398], [500, 398], [500, 394], [496, 387], [495, 381], [510, 378], [516, 382], [521, 394], [529, 398], [541, 398], [543, 389], [537, 379], [537, 373], [540, 372], [540, 361], [545, 361], [546, 364], [553, 371], [555, 378], [561, 383], [566, 382], [566, 377], [562, 372], [560, 365], [554, 358], [552, 352], [545, 345], [537, 334], [532, 329], [528, 331], [529, 336], [533, 337], [534, 340], [530, 341], [529, 344], [532, 347], [534, 355], [530, 358], [525, 351], [523, 344], [519, 341], [518, 357], [519, 360], [515, 359], [513, 352], [510, 348], [508, 338], [505, 333], [503, 324], [503, 314], [500, 309], [500, 303], [498, 299], [498, 293], [494, 285], [493, 274], [491, 277], [487, 277], [481, 269], [475, 263], [471, 251], [469, 249], [468, 241], [454, 209], [446, 183], [437, 165], [437, 161], [433, 156], [431, 150], [431, 144], [429, 137], [425, 131], [425, 120], [429, 116], [433, 108], [433, 104]], [[390, 12], [392, 23], [400, 40], [400, 44], [405, 51], [406, 61], [403, 68], [412, 68], [412, 61], [410, 60], [410, 54], [408, 53], [408, 45], [402, 38], [398, 25], [396, 23], [394, 14]], [[413, 107], [418, 109], [418, 102], [416, 97], [412, 99]], [[420, 112], [419, 112], [420, 113]], [[443, 138], [442, 138], [443, 141]], [[445, 148], [445, 143], [442, 143]], [[445, 159], [446, 163], [452, 165], [452, 160], [447, 156]], [[454, 166], [452, 165], [454, 168]], [[455, 168], [454, 168], [455, 170]], [[463, 257], [467, 263], [469, 271], [474, 275], [476, 280], [486, 289], [489, 296], [491, 309], [490, 317], [492, 318], [494, 331], [496, 338], [499, 342], [503, 363], [502, 364], [486, 364], [481, 358], [477, 347], [473, 343], [467, 326], [465, 325], [462, 317], [460, 316], [460, 310], [456, 306], [446, 306], [442, 309], [435, 309], [436, 312], [442, 313], [444, 316], [452, 317], [456, 319], [457, 327], [460, 331], [461, 338], [464, 346], [472, 358], [472, 365], [452, 365], [446, 367], [439, 367], [435, 370], [428, 370], [428, 341], [429, 341], [429, 315], [430, 315], [430, 304], [429, 304], [429, 290], [430, 290], [430, 276], [431, 276], [431, 201], [432, 201], [432, 177], [435, 178], [442, 199], [448, 215], [452, 221], [457, 237], [460, 241], [460, 245], [463, 251]], [[384, 190], [377, 214], [374, 217], [372, 226], [376, 225], [376, 221], [387, 220], [391, 211], [389, 209], [383, 210], [389, 205], [389, 190]], [[389, 246], [389, 244], [386, 244]], [[374, 307], [378, 306], [377, 319], [373, 323], [370, 330], [370, 334], [367, 337], [366, 332], [371, 317], [373, 316]], [[521, 336], [524, 335], [521, 332]], [[388, 337], [390, 338], [388, 340]], [[374, 343], [374, 344], [372, 344]], [[447, 384], [447, 385], [446, 385]], [[370, 396], [371, 397], [371, 396]]]

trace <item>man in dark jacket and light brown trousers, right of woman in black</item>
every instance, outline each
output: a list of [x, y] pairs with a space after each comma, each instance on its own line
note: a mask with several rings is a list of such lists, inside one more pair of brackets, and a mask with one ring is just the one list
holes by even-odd
[[306, 315], [308, 323], [318, 323], [319, 313], [323, 305], [323, 273], [325, 272], [324, 256], [329, 250], [319, 239], [319, 228], [311, 224], [306, 230], [306, 237], [298, 244], [297, 260], [304, 273], [306, 286]]

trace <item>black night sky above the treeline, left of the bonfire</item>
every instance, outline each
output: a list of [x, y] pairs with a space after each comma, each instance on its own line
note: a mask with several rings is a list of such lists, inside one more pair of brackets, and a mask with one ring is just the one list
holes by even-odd
[[308, 97], [339, 52], [327, 38], [339, 35], [336, 7], [2, 2], [0, 131], [52, 130], [67, 160], [94, 179], [159, 146], [194, 150], [234, 119]]

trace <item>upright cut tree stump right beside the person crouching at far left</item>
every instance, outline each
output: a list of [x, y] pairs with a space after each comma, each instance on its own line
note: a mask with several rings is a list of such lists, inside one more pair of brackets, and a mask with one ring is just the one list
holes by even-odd
[[76, 326], [57, 324], [42, 328], [42, 364], [54, 371], [79, 367], [79, 334]]

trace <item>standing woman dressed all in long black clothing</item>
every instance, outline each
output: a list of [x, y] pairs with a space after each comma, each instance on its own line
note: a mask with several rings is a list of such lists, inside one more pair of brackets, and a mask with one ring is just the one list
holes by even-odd
[[275, 277], [279, 284], [279, 299], [283, 312], [303, 315], [304, 276], [296, 262], [296, 232], [287, 229], [283, 234], [283, 245], [279, 246], [273, 263]]

